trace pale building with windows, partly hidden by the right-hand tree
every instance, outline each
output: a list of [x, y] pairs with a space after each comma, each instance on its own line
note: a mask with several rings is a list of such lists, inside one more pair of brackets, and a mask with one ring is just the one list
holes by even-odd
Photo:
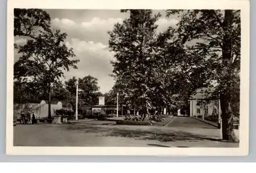
[[190, 117], [213, 122], [220, 121], [220, 100], [213, 95], [213, 92], [214, 88], [201, 88], [190, 96]]

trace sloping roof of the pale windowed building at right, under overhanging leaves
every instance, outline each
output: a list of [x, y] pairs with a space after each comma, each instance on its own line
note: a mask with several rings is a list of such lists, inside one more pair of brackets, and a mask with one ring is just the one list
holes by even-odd
[[212, 99], [215, 88], [200, 88], [194, 95], [191, 95], [189, 99]]

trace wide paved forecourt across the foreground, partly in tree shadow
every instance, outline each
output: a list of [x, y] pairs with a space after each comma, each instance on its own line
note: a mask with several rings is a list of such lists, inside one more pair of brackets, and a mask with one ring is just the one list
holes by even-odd
[[196, 128], [180, 127], [189, 124], [183, 122], [186, 119], [190, 122], [189, 117], [175, 117], [167, 127], [93, 119], [71, 124], [17, 124], [13, 127], [14, 146], [239, 147], [239, 143], [222, 141], [220, 129], [197, 126], [199, 120], [190, 122]]

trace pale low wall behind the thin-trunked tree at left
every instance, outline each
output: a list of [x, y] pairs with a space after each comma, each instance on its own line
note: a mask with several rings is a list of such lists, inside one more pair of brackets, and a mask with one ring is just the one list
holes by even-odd
[[[54, 115], [56, 110], [62, 108], [62, 103], [58, 102], [57, 104], [51, 104], [51, 115]], [[21, 103], [13, 104], [13, 119], [17, 119], [20, 114], [30, 113], [35, 115], [36, 118], [48, 117], [48, 104], [45, 101], [40, 103]]]

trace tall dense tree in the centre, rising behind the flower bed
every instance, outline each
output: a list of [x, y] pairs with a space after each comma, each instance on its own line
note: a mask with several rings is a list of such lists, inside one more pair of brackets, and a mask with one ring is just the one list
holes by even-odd
[[153, 15], [152, 10], [121, 10], [130, 12], [130, 17], [117, 23], [109, 32], [109, 45], [115, 52], [113, 73], [119, 93], [131, 104], [139, 104], [145, 113], [152, 107], [151, 83], [154, 80], [154, 53], [157, 39], [155, 22], [160, 14]]

